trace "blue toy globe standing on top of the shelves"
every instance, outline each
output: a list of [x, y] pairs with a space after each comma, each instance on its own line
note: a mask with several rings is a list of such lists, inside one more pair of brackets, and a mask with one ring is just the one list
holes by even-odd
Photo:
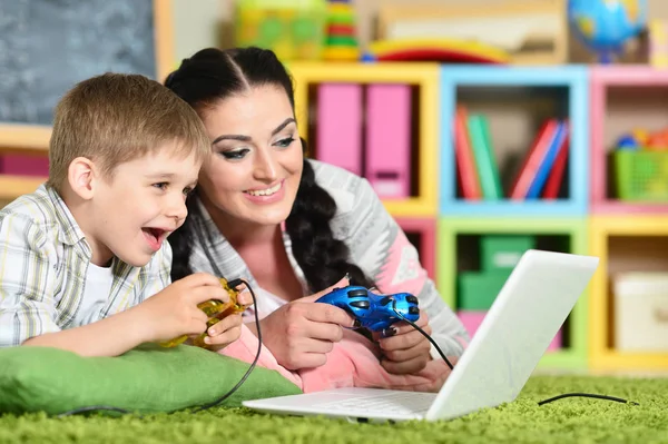
[[599, 62], [611, 63], [647, 23], [647, 0], [569, 0], [568, 18]]

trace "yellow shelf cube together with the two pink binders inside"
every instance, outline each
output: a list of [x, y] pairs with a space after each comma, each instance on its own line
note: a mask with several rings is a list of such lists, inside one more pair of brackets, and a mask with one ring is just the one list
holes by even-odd
[[315, 158], [362, 172], [394, 216], [436, 216], [436, 63], [303, 61], [287, 69]]

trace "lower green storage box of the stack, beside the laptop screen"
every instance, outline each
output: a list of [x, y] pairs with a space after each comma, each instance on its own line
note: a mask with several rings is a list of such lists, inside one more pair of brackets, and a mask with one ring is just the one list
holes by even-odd
[[458, 309], [487, 310], [492, 306], [497, 295], [505, 284], [511, 270], [501, 272], [463, 272], [458, 276]]

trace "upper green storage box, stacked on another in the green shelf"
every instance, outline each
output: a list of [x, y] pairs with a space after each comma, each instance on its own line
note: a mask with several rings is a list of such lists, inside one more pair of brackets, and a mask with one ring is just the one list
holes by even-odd
[[494, 235], [482, 236], [482, 270], [512, 270], [528, 249], [534, 248], [533, 236]]

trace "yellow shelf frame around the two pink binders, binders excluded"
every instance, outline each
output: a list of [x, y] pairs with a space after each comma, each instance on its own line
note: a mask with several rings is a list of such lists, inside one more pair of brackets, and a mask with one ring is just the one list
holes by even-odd
[[[418, 146], [411, 152], [412, 191], [406, 198], [384, 199], [394, 216], [435, 217], [438, 169], [438, 99], [439, 66], [436, 63], [358, 63], [358, 62], [288, 62], [295, 85], [295, 114], [299, 134], [318, 158], [315, 116], [317, 87], [333, 85], [410, 85], [413, 88], [412, 138]], [[352, 110], [351, 110], [352, 112]], [[367, 124], [367, 122], [366, 122]]]

